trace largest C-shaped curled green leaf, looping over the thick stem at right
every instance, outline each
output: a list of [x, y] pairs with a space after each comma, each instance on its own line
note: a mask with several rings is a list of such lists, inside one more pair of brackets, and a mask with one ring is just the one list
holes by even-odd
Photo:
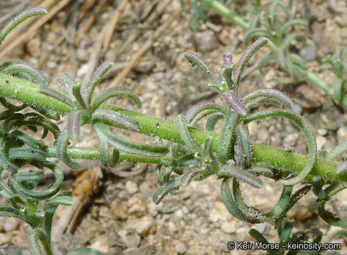
[[259, 120], [268, 117], [280, 117], [292, 120], [295, 124], [299, 126], [299, 128], [302, 129], [302, 132], [304, 132], [308, 147], [307, 163], [304, 166], [304, 169], [302, 169], [302, 171], [300, 171], [299, 174], [294, 178], [288, 180], [280, 180], [280, 183], [285, 186], [292, 186], [302, 182], [302, 180], [304, 180], [306, 176], [309, 174], [309, 172], [312, 170], [312, 167], [316, 162], [316, 140], [314, 139], [314, 133], [311, 124], [307, 120], [302, 118], [300, 115], [297, 115], [297, 113], [285, 110], [260, 111], [258, 113], [254, 113], [248, 116], [248, 118], [244, 120], [244, 123], [247, 124], [253, 120]]

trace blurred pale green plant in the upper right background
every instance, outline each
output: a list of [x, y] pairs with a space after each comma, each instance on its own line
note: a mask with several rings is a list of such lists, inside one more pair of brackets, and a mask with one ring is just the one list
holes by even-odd
[[[289, 50], [292, 40], [306, 40], [304, 35], [292, 32], [292, 28], [294, 26], [307, 26], [307, 23], [300, 19], [289, 20], [288, 15], [282, 16], [277, 10], [278, 8], [282, 9], [283, 14], [288, 13], [287, 6], [282, 0], [270, 0], [263, 5], [260, 4], [260, 0], [249, 1], [251, 1], [252, 7], [246, 8], [243, 10], [243, 13], [251, 13], [250, 21], [245, 21], [241, 15], [231, 11], [231, 9], [228, 8], [229, 5], [224, 4], [223, 1], [197, 0], [197, 4], [199, 10], [204, 10], [205, 17], [206, 11], [214, 10], [221, 16], [233, 21], [237, 26], [246, 30], [246, 42], [256, 38], [268, 38], [269, 41], [266, 46], [270, 48], [272, 53], [260, 61], [260, 68], [263, 67], [266, 62], [277, 59], [281, 69], [288, 72], [294, 82], [299, 81], [299, 75], [301, 75], [332, 96], [341, 106], [347, 108], [346, 95], [344, 93], [338, 93], [338, 91], [341, 91], [342, 85], [339, 81], [341, 78], [337, 76], [337, 80], [330, 85], [327, 84], [305, 67], [304, 61], [299, 55]], [[204, 19], [206, 20], [206, 18]], [[346, 61], [346, 56], [343, 61]]]

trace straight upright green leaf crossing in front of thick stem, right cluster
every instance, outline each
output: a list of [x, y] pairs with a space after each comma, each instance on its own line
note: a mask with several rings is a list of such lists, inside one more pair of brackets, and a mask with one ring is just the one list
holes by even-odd
[[225, 164], [228, 160], [229, 149], [233, 147], [235, 142], [234, 129], [236, 125], [237, 114], [234, 111], [226, 112], [221, 134], [219, 135], [219, 142], [217, 147], [217, 154], [221, 164]]

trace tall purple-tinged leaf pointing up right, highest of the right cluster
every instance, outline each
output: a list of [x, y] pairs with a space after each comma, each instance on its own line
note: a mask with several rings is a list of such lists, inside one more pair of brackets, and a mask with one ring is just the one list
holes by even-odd
[[260, 50], [268, 42], [265, 38], [259, 38], [255, 42], [253, 42], [250, 46], [247, 47], [246, 51], [243, 53], [241, 59], [238, 61], [236, 69], [233, 70], [233, 83], [236, 86], [236, 91], [238, 89], [238, 85], [242, 79], [243, 70], [247, 66], [250, 57], [252, 57], [255, 52]]

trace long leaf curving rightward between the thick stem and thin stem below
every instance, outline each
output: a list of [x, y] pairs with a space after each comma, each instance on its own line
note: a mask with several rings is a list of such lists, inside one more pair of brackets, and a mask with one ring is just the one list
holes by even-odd
[[122, 150], [124, 152], [139, 154], [148, 157], [160, 157], [168, 152], [167, 147], [138, 145], [123, 140], [121, 137], [116, 137], [115, 135], [112, 135], [111, 132], [109, 132], [104, 123], [94, 123], [93, 127], [99, 137], [105, 137], [107, 140], [109, 140], [109, 143], [116, 149]]

